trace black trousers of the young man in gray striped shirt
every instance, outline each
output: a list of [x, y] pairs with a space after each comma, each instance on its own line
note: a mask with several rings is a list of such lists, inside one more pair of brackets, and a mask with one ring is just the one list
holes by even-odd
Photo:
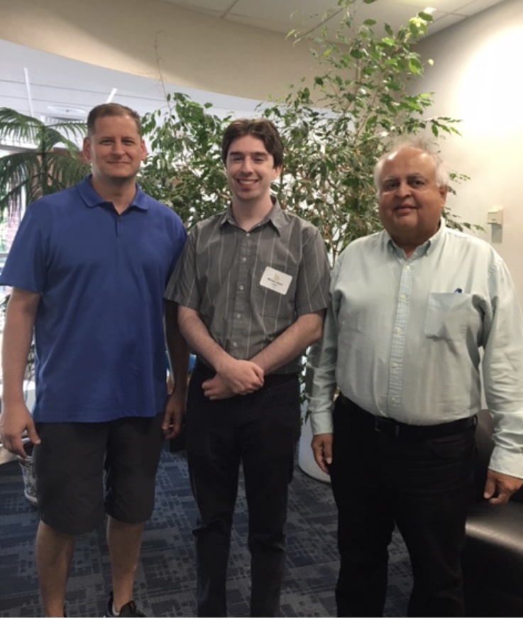
[[197, 526], [199, 617], [225, 617], [226, 573], [240, 464], [248, 505], [251, 617], [275, 617], [285, 562], [288, 484], [300, 429], [297, 376], [265, 380], [252, 395], [209, 400], [197, 366], [187, 401], [187, 459]]

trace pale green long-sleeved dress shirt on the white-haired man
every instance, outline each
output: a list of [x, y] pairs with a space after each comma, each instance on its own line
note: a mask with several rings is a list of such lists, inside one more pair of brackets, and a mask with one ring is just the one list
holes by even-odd
[[490, 469], [523, 477], [523, 317], [502, 258], [446, 228], [407, 258], [386, 231], [353, 241], [332, 273], [309, 411], [332, 432], [336, 386], [407, 424], [495, 418]]

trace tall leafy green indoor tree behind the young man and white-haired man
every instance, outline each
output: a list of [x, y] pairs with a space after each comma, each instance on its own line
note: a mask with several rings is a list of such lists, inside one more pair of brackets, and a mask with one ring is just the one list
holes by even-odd
[[[426, 35], [431, 16], [419, 13], [392, 31], [373, 20], [358, 22], [360, 4], [339, 0], [344, 11], [334, 41], [326, 32], [310, 41], [316, 71], [312, 87], [304, 78], [283, 99], [258, 108], [285, 143], [285, 168], [273, 189], [285, 209], [319, 228], [333, 263], [347, 243], [381, 229], [373, 168], [390, 142], [421, 131], [458, 135], [458, 121], [427, 116], [433, 94], [413, 94], [415, 80], [424, 73], [414, 45]], [[292, 36], [302, 39], [299, 33]], [[153, 155], [141, 183], [191, 226], [226, 205], [220, 141], [230, 118], [214, 116], [210, 105], [182, 94], [166, 99], [167, 111], [145, 118]], [[450, 213], [447, 218], [451, 226], [471, 227]], [[312, 458], [306, 410], [305, 404], [300, 466], [304, 454]], [[326, 478], [314, 463], [302, 468]]]

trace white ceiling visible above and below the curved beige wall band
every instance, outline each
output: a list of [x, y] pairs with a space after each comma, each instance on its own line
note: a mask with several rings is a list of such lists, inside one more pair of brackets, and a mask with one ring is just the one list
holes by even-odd
[[[339, 11], [337, 0], [161, 0], [245, 26], [287, 34], [293, 28], [314, 32], [323, 25], [326, 11]], [[377, 0], [358, 9], [358, 19], [374, 17], [397, 28], [427, 6], [433, 7], [435, 33], [502, 0]], [[325, 25], [334, 32], [336, 14]], [[83, 119], [87, 111], [106, 101], [116, 88], [114, 101], [138, 113], [158, 109], [163, 93], [158, 82], [95, 67], [0, 40], [0, 107], [26, 114]], [[213, 102], [216, 114], [231, 111], [250, 114], [258, 102], [239, 97], [180, 88], [195, 101]], [[31, 105], [30, 105], [31, 102]]]

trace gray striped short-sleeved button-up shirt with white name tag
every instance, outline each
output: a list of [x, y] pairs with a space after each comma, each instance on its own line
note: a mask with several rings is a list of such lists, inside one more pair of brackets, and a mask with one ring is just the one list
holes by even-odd
[[[250, 359], [299, 316], [325, 309], [330, 269], [318, 229], [275, 202], [250, 231], [226, 212], [199, 222], [165, 297], [195, 309], [231, 356]], [[299, 370], [297, 358], [278, 373]]]

